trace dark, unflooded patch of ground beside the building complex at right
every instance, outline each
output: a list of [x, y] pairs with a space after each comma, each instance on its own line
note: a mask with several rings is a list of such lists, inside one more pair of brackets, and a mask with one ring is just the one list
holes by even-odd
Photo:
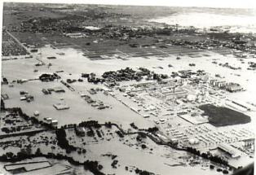
[[204, 111], [204, 115], [209, 116], [209, 123], [217, 127], [250, 122], [249, 116], [227, 107], [216, 107], [211, 104], [205, 104], [201, 105], [199, 108]]

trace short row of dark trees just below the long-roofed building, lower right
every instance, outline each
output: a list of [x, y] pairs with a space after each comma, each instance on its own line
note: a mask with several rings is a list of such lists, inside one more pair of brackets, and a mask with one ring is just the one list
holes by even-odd
[[196, 150], [196, 148], [192, 148], [192, 147], [187, 147], [187, 151], [194, 154], [194, 155], [198, 155], [198, 156], [201, 156], [202, 158], [213, 161], [215, 163], [223, 164], [223, 165], [228, 166], [227, 160], [224, 160], [222, 157], [220, 157], [218, 155], [212, 155], [210, 153], [206, 154], [205, 152], [201, 153], [200, 151]]

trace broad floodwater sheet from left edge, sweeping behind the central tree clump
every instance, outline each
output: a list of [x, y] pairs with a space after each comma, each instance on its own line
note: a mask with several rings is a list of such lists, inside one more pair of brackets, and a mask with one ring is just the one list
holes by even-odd
[[[239, 92], [236, 94], [228, 94], [227, 98], [231, 99], [239, 99], [245, 103], [256, 103], [253, 98], [256, 96], [256, 90], [254, 88], [254, 82], [256, 81], [256, 72], [247, 70], [247, 63], [241, 63], [241, 61], [235, 58], [232, 55], [218, 55], [213, 52], [202, 52], [201, 57], [191, 58], [187, 56], [180, 56], [181, 59], [176, 59], [176, 56], [170, 56], [168, 58], [161, 58], [161, 60], [157, 57], [151, 57], [150, 59], [144, 58], [130, 58], [128, 60], [121, 59], [104, 59], [104, 60], [95, 60], [92, 61], [87, 59], [82, 55], [82, 52], [74, 49], [52, 49], [51, 47], [44, 47], [41, 50], [42, 55], [34, 55], [42, 62], [51, 63], [52, 66], [45, 67], [36, 67], [34, 64], [38, 63], [35, 59], [19, 59], [19, 60], [9, 60], [2, 62], [2, 75], [7, 77], [9, 81], [16, 79], [33, 79], [38, 77], [40, 74], [44, 72], [56, 72], [56, 71], [64, 71], [64, 73], [60, 73], [60, 77], [66, 78], [79, 78], [81, 77], [81, 73], [90, 73], [95, 72], [97, 76], [101, 76], [106, 71], [115, 71], [120, 68], [139, 68], [144, 67], [149, 70], [157, 73], [164, 73], [170, 75], [171, 72], [175, 72], [176, 70], [198, 70], [202, 69], [205, 72], [208, 72], [211, 77], [214, 77], [215, 74], [219, 74], [221, 77], [225, 77], [226, 81], [236, 82], [241, 84], [243, 88], [245, 88], [245, 92]], [[57, 53], [64, 53], [64, 55], [58, 55]], [[205, 54], [209, 56], [204, 56]], [[47, 59], [49, 56], [55, 56], [56, 59]], [[232, 66], [241, 67], [241, 70], [232, 70], [230, 68], [225, 68], [222, 66], [218, 66], [217, 64], [213, 64], [213, 61], [217, 61], [218, 63], [229, 63]], [[245, 59], [245, 62], [249, 62], [250, 59]], [[145, 67], [145, 62], [147, 62], [147, 67]], [[190, 67], [189, 63], [195, 63], [195, 67]], [[169, 67], [171, 64], [173, 67]], [[79, 65], [79, 66], [78, 66]], [[15, 72], [11, 72], [11, 69], [15, 69]], [[38, 69], [38, 72], [33, 72], [34, 69]], [[239, 75], [239, 76], [238, 76]], [[64, 124], [65, 121], [62, 120], [62, 116], [68, 115], [65, 111], [56, 111], [54, 107], [52, 107], [53, 103], [60, 101], [60, 98], [65, 98], [65, 102], [70, 105], [70, 112], [73, 114], [72, 116], [68, 116], [68, 118], [73, 118], [73, 121], [78, 122], [83, 119], [88, 118], [99, 118], [102, 121], [107, 121], [109, 119], [113, 121], [118, 121], [123, 117], [125, 120], [133, 121], [136, 119], [139, 125], [143, 124], [143, 121], [139, 122], [141, 116], [136, 114], [135, 112], [126, 109], [121, 103], [117, 102], [116, 99], [105, 96], [104, 94], [97, 94], [97, 98], [106, 98], [112, 106], [118, 112], [113, 113], [112, 109], [107, 109], [104, 111], [99, 111], [90, 107], [83, 101], [82, 98], [79, 97], [79, 91], [89, 90], [91, 87], [104, 87], [104, 85], [90, 85], [87, 82], [75, 82], [73, 83], [73, 87], [77, 90], [76, 93], [71, 93], [66, 90], [65, 94], [51, 94], [51, 96], [45, 96], [42, 94], [42, 88], [49, 88], [55, 86], [62, 86], [64, 89], [64, 85], [60, 82], [55, 83], [39, 83], [39, 81], [30, 81], [28, 83], [24, 83], [24, 85], [15, 85], [14, 88], [9, 88], [5, 85], [2, 86], [2, 90], [7, 90], [7, 94], [11, 94], [11, 99], [7, 100], [8, 106], [19, 105], [24, 107], [29, 114], [33, 113], [33, 110], [37, 109], [39, 111], [44, 111], [42, 113], [43, 117], [51, 116], [55, 119], [59, 119], [60, 125]], [[12, 100], [19, 98], [20, 90], [28, 90], [31, 94], [35, 94], [38, 98], [33, 103], [23, 103], [17, 100]], [[98, 97], [99, 96], [99, 97]], [[38, 101], [38, 102], [37, 102]], [[38, 107], [38, 104], [42, 104], [42, 106]], [[46, 105], [48, 104], [48, 105]], [[48, 107], [47, 107], [48, 106]], [[32, 110], [33, 109], [33, 110]], [[42, 110], [44, 109], [44, 110]], [[47, 109], [47, 110], [46, 110]], [[53, 112], [53, 113], [51, 113]], [[74, 112], [74, 113], [73, 113]], [[68, 112], [69, 113], [69, 112]], [[81, 117], [81, 119], [77, 119], [77, 116]], [[126, 116], [122, 116], [119, 114], [126, 114]], [[253, 112], [248, 113], [250, 116], [254, 115]], [[129, 116], [129, 117], [128, 117]], [[117, 117], [117, 118], [116, 118]], [[131, 119], [131, 117], [134, 117]], [[115, 119], [116, 118], [116, 119]], [[252, 116], [253, 122], [254, 116]], [[61, 120], [60, 120], [61, 119]], [[69, 122], [67, 120], [67, 122]]]

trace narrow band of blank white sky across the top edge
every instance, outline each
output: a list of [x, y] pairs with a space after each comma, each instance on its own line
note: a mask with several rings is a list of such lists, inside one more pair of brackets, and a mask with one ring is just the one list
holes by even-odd
[[4, 2], [56, 2], [111, 5], [255, 8], [256, 0], [3, 0]]

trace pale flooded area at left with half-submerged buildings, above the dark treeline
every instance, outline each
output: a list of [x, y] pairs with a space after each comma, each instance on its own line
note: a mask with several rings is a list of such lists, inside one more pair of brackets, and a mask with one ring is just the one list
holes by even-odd
[[[42, 88], [52, 88], [61, 86], [64, 88], [65, 93], [53, 93], [45, 95], [42, 93]], [[86, 90], [83, 86], [83, 90]], [[67, 125], [70, 123], [80, 123], [83, 120], [99, 120], [100, 123], [113, 121], [123, 125], [125, 128], [133, 121], [140, 127], [144, 128], [150, 126], [150, 122], [143, 120], [137, 113], [131, 111], [123, 104], [119, 103], [115, 98], [102, 94], [96, 94], [97, 99], [104, 99], [112, 108], [99, 110], [91, 107], [84, 99], [78, 94], [71, 92], [60, 82], [41, 83], [39, 81], [29, 81], [24, 85], [15, 85], [13, 88], [2, 86], [2, 90], [10, 94], [10, 99], [6, 101], [7, 107], [21, 107], [24, 112], [33, 116], [33, 112], [40, 112], [40, 119], [51, 117], [59, 121], [59, 125]], [[29, 94], [33, 94], [35, 99], [31, 103], [20, 101], [20, 90], [27, 90]], [[90, 90], [88, 88], [87, 90]], [[64, 98], [61, 100], [60, 98]], [[67, 110], [56, 110], [53, 104], [63, 102], [70, 107]]]

